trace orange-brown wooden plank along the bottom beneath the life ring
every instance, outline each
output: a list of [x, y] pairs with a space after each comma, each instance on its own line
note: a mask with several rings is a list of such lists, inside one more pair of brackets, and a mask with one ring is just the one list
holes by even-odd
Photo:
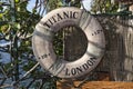
[[[58, 82], [58, 89], [133, 89], [133, 82], [113, 82], [113, 81], [88, 81], [80, 88], [73, 88]], [[74, 85], [79, 85], [75, 81]]]

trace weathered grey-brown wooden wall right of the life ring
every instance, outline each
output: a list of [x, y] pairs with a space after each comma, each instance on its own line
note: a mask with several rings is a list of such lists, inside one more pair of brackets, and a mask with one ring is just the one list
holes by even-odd
[[[102, 20], [100, 19], [102, 18]], [[111, 80], [133, 81], [133, 26], [126, 16], [99, 17], [106, 38], [106, 52], [99, 71], [108, 71]]]

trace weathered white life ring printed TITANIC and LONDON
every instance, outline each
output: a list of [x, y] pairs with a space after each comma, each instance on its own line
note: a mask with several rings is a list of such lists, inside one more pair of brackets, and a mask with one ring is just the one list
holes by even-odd
[[[80, 27], [86, 36], [85, 53], [75, 61], [58, 59], [52, 46], [53, 33], [68, 26]], [[45, 14], [35, 26], [32, 48], [40, 65], [53, 76], [78, 78], [93, 70], [104, 53], [102, 27], [89, 12], [79, 8], [59, 8]]]

